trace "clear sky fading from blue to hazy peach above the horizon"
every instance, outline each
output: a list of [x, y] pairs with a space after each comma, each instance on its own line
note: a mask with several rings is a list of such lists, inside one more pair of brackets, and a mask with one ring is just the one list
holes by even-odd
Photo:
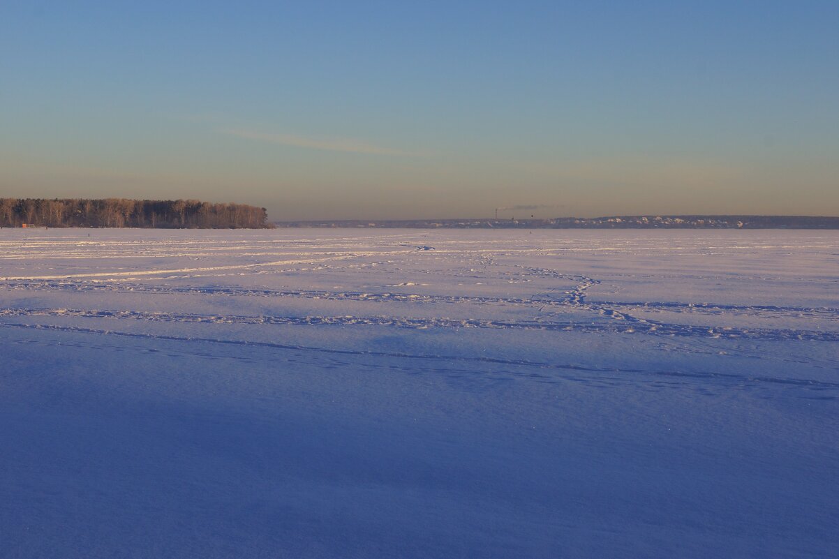
[[0, 2], [0, 196], [839, 215], [839, 2]]

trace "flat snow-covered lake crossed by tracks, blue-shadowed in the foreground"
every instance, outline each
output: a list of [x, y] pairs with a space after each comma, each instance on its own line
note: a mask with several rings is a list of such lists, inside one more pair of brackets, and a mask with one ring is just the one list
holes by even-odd
[[839, 232], [0, 230], [0, 556], [839, 556]]

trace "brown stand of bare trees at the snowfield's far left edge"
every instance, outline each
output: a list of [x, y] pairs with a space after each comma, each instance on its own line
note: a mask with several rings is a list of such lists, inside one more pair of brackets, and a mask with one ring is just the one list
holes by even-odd
[[263, 207], [199, 200], [0, 198], [0, 227], [272, 227]]

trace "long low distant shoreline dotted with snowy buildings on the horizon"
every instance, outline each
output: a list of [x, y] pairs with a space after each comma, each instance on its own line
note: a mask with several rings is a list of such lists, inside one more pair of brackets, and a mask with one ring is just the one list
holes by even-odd
[[839, 229], [839, 217], [610, 216], [553, 219], [410, 219], [276, 222], [277, 227], [405, 227], [418, 229]]

